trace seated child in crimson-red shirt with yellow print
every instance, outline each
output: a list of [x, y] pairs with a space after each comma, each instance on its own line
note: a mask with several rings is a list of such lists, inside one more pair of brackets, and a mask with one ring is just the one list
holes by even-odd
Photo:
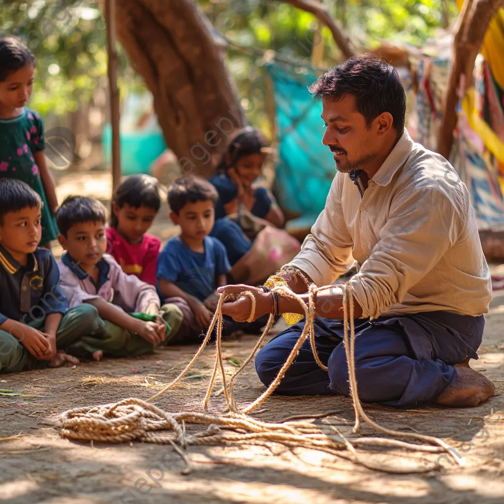
[[146, 234], [159, 211], [157, 180], [149, 175], [132, 175], [117, 187], [112, 199], [109, 254], [122, 271], [156, 284], [156, 266], [161, 240]]

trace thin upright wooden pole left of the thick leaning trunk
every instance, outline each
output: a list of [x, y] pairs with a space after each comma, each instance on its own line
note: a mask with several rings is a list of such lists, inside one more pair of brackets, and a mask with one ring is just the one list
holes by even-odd
[[117, 50], [115, 47], [115, 0], [105, 0], [107, 22], [108, 86], [110, 95], [110, 123], [112, 126], [112, 191], [121, 179], [121, 148], [119, 133], [119, 88], [117, 87]]

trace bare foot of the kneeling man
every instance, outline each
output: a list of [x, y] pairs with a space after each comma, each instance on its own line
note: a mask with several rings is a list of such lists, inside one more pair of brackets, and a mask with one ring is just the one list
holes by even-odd
[[455, 364], [457, 377], [435, 400], [437, 404], [468, 408], [478, 406], [493, 396], [495, 386], [483, 374], [469, 367], [465, 361]]

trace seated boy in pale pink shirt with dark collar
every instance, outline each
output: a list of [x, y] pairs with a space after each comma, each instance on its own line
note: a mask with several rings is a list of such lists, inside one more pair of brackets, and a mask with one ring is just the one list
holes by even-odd
[[[125, 274], [112, 256], [103, 255], [105, 207], [100, 202], [71, 196], [59, 207], [56, 220], [59, 243], [67, 251], [58, 267], [69, 305], [89, 303], [103, 319], [99, 331], [79, 342], [83, 353], [91, 352], [95, 358], [102, 351], [104, 355], [135, 357], [151, 352], [177, 332], [180, 310], [163, 306], [161, 318], [154, 286]], [[154, 320], [142, 320], [145, 315], [133, 317], [131, 312], [151, 314]]]

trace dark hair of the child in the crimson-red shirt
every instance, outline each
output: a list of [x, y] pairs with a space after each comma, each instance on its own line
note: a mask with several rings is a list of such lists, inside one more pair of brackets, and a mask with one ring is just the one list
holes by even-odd
[[158, 181], [150, 175], [132, 175], [124, 179], [112, 198], [112, 211], [110, 212], [110, 225], [117, 228], [118, 221], [114, 215], [114, 203], [117, 203], [119, 208], [128, 204], [135, 208], [142, 206], [152, 208], [156, 212], [161, 207], [161, 198], [158, 192]]

